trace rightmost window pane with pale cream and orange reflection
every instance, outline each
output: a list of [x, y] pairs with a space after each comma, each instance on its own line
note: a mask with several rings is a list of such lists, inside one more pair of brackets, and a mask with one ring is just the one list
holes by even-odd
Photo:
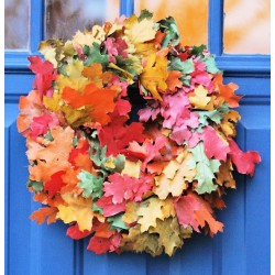
[[224, 53], [271, 53], [271, 1], [224, 0]]

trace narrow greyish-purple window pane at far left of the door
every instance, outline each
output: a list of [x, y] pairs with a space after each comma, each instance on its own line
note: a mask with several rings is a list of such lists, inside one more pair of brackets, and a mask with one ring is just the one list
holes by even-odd
[[28, 50], [30, 37], [30, 0], [4, 1], [4, 48]]

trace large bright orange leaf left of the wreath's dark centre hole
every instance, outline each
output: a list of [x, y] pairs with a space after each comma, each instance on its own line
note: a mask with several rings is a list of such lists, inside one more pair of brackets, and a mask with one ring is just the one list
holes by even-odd
[[94, 82], [88, 84], [84, 94], [69, 87], [63, 89], [62, 97], [64, 101], [75, 109], [84, 106], [91, 107], [90, 116], [95, 122], [106, 125], [110, 121], [108, 113], [114, 109], [114, 97], [117, 91], [111, 89], [99, 89]]

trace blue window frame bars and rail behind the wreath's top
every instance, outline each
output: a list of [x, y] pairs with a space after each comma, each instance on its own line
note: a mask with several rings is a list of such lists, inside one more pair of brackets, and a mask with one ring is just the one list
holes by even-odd
[[[44, 40], [44, 0], [30, 0], [30, 50], [4, 51], [6, 73], [30, 74], [28, 56], [40, 55], [37, 46]], [[134, 12], [134, 0], [120, 0], [120, 14]], [[209, 0], [208, 48], [216, 55], [224, 74], [271, 75], [271, 55], [240, 55], [223, 53], [223, 0]]]

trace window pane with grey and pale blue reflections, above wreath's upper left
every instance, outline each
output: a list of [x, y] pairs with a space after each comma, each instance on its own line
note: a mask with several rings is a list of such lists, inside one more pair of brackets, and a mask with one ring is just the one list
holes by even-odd
[[46, 38], [72, 38], [78, 30], [112, 22], [119, 16], [119, 0], [46, 0]]

